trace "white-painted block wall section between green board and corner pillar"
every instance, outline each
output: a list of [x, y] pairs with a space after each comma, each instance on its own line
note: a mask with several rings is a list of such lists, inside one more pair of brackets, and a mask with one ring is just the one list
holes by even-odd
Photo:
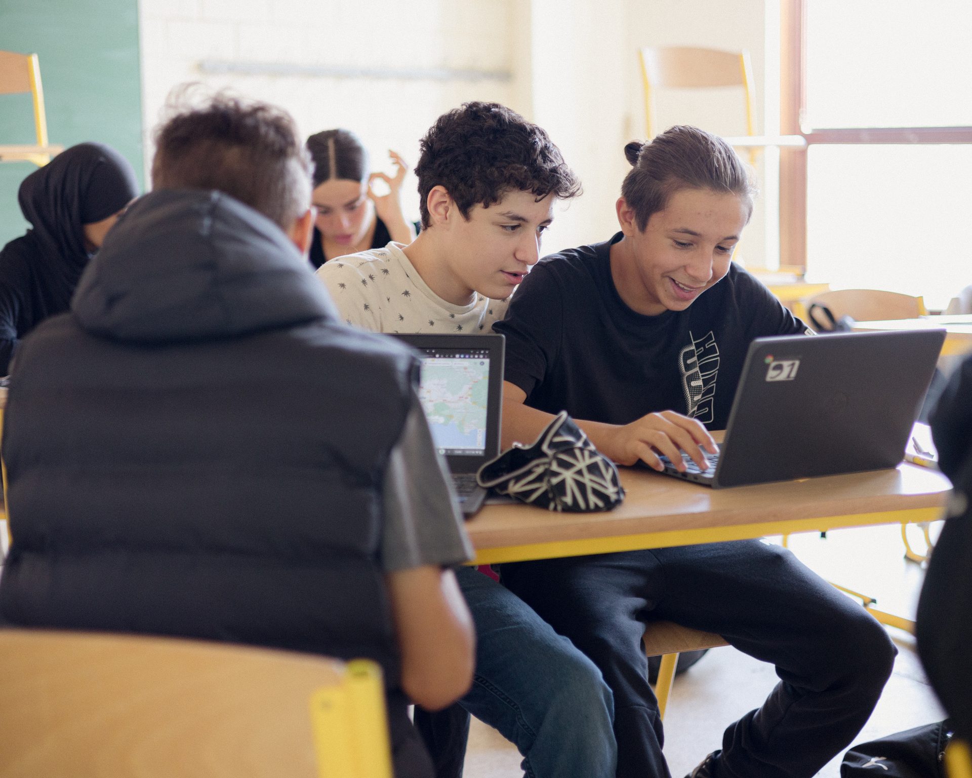
[[[514, 81], [215, 74], [203, 72], [200, 64], [509, 74], [511, 25], [519, 5], [520, 0], [139, 0], [147, 163], [170, 90], [199, 82], [286, 108], [303, 135], [351, 128], [376, 169], [390, 169], [390, 148], [414, 164], [419, 138], [439, 114], [462, 102], [496, 100], [529, 112], [529, 106], [517, 105]], [[405, 192], [406, 211], [417, 219], [411, 176]]]

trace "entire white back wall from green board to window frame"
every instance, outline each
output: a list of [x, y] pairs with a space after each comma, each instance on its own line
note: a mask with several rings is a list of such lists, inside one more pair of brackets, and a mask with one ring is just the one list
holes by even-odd
[[[747, 48], [761, 85], [764, 2], [140, 0], [145, 124], [156, 125], [170, 88], [201, 81], [287, 108], [304, 134], [350, 127], [375, 166], [389, 147], [414, 164], [418, 140], [435, 117], [466, 100], [497, 100], [543, 126], [583, 183], [584, 194], [563, 206], [544, 240], [544, 250], [556, 251], [617, 229], [614, 201], [628, 169], [624, 144], [644, 134], [638, 48]], [[200, 72], [204, 60], [454, 68], [510, 78], [212, 75]], [[659, 113], [662, 124], [743, 134], [741, 106], [737, 95], [676, 95], [659, 104]], [[727, 120], [734, 116], [736, 122]], [[151, 154], [151, 142], [146, 145]], [[417, 217], [414, 178], [409, 182], [406, 210]], [[742, 252], [749, 264], [762, 263], [761, 219], [757, 207]]]

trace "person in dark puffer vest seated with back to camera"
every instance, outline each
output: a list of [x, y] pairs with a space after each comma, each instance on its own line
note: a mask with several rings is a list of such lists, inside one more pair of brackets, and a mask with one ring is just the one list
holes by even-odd
[[17, 352], [0, 619], [372, 658], [396, 774], [431, 776], [406, 705], [469, 687], [470, 548], [416, 355], [336, 321], [288, 115], [217, 97], [156, 142], [156, 191]]

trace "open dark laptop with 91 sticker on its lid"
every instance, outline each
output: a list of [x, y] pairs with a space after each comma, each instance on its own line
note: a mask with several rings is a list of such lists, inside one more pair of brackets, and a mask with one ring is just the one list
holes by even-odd
[[718, 454], [669, 476], [715, 488], [893, 468], [928, 390], [944, 330], [760, 337]]

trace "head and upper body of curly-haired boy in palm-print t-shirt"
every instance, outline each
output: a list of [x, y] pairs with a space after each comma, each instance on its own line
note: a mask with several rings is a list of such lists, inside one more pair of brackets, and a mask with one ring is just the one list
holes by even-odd
[[[543, 140], [533, 145], [534, 130], [525, 127]], [[318, 275], [349, 324], [388, 333], [489, 332], [538, 261], [554, 202], [578, 195], [580, 185], [542, 129], [497, 103], [468, 103], [439, 117], [422, 139], [415, 174], [418, 237], [338, 257]]]

